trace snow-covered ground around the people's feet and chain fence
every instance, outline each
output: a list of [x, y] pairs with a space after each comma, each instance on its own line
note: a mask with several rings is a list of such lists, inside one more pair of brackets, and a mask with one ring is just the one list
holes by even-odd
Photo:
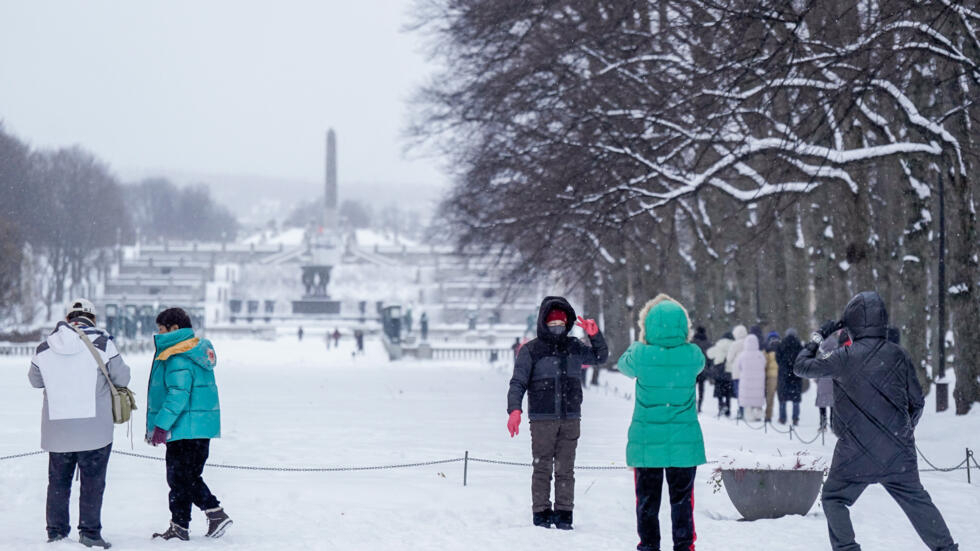
[[[224, 437], [212, 445], [211, 462], [262, 466], [384, 465], [472, 456], [526, 462], [526, 423], [511, 439], [505, 429], [509, 368], [449, 363], [388, 363], [372, 345], [356, 360], [350, 349], [323, 349], [319, 339], [297, 344], [216, 342]], [[128, 358], [132, 388], [142, 395], [149, 357]], [[25, 358], [0, 358], [0, 456], [37, 449], [41, 394], [27, 382]], [[580, 465], [622, 465], [632, 411], [632, 385], [604, 374], [587, 391], [579, 446]], [[710, 387], [709, 387], [710, 388]], [[804, 399], [800, 432], [816, 434], [813, 394]], [[811, 446], [715, 419], [706, 402], [702, 425], [709, 459], [727, 451], [832, 452], [833, 442]], [[930, 407], [932, 403], [930, 401]], [[135, 452], [163, 456], [144, 443], [144, 411], [137, 412]], [[923, 452], [941, 466], [980, 450], [980, 415], [955, 418], [929, 413], [919, 431]], [[125, 428], [115, 449], [130, 451]], [[699, 549], [816, 551], [829, 548], [819, 504], [807, 517], [742, 522], [727, 495], [712, 493], [710, 468], [699, 470], [696, 522]], [[571, 533], [530, 526], [530, 469], [470, 464], [469, 486], [461, 463], [394, 471], [279, 473], [210, 468], [205, 478], [235, 520], [216, 541], [201, 538], [203, 515], [194, 512], [194, 549], [338, 550], [577, 550], [635, 549], [632, 473], [577, 473], [576, 529]], [[980, 473], [923, 475], [961, 549], [980, 546]], [[44, 543], [46, 458], [0, 462], [0, 548], [76, 549]], [[77, 492], [77, 485], [76, 490]], [[103, 533], [118, 549], [160, 549], [149, 536], [169, 519], [162, 462], [113, 456], [103, 509]], [[72, 508], [76, 522], [76, 506]], [[853, 510], [859, 541], [867, 549], [924, 549], [898, 506], [870, 488]], [[669, 534], [668, 515], [662, 515]], [[77, 534], [72, 531], [72, 538]], [[669, 549], [669, 539], [664, 542]]]

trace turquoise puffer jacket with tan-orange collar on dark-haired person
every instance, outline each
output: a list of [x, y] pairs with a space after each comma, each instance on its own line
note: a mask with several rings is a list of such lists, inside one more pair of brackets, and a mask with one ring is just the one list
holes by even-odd
[[221, 408], [214, 380], [217, 359], [193, 329], [155, 335], [156, 353], [147, 392], [146, 433], [169, 431], [168, 442], [221, 436]]

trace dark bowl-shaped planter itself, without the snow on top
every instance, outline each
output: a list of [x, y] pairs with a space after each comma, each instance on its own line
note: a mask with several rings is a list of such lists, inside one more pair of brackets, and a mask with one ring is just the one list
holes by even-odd
[[721, 482], [745, 520], [779, 518], [810, 512], [823, 471], [721, 469]]

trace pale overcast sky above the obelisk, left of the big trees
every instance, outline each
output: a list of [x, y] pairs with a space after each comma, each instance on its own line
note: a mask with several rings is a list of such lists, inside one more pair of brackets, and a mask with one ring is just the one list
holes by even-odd
[[403, 156], [406, 100], [432, 71], [410, 0], [0, 0], [0, 120], [154, 171], [445, 185]]

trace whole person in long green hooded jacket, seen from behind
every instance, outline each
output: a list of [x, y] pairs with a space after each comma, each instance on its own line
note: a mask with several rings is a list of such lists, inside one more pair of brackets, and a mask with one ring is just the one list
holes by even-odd
[[696, 382], [704, 354], [689, 341], [687, 311], [658, 295], [640, 311], [640, 338], [619, 359], [619, 371], [636, 379], [636, 405], [626, 446], [635, 469], [639, 551], [660, 549], [660, 495], [666, 476], [674, 549], [693, 551], [694, 478], [703, 465]]

